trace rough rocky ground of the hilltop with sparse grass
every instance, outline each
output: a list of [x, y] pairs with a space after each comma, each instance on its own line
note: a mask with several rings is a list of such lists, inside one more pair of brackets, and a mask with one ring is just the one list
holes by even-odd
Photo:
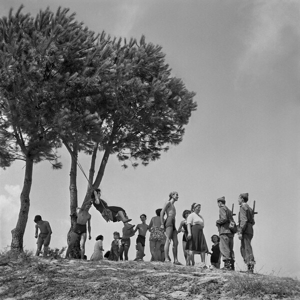
[[300, 282], [173, 263], [2, 256], [0, 299], [300, 299]]

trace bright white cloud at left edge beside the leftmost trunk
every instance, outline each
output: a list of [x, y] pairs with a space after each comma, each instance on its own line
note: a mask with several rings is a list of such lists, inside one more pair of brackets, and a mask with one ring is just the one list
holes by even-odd
[[15, 227], [20, 200], [21, 188], [19, 185], [4, 186], [7, 194], [0, 194], [0, 248], [6, 247], [11, 241], [11, 229]]

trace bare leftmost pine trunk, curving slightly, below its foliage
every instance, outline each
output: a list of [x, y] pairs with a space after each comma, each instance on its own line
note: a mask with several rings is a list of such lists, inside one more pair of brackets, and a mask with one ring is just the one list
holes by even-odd
[[24, 182], [20, 195], [19, 215], [15, 228], [11, 230], [12, 239], [10, 249], [15, 251], [23, 251], [23, 236], [26, 228], [30, 205], [29, 193], [32, 183], [32, 169], [33, 159], [31, 157], [26, 157]]

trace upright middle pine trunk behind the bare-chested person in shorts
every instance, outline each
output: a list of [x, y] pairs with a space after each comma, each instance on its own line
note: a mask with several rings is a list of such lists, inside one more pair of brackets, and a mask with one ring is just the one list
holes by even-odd
[[[72, 228], [77, 221], [76, 208], [78, 206], [77, 201], [77, 158], [78, 158], [78, 147], [77, 144], [73, 144], [73, 150], [71, 150], [71, 168], [70, 168], [70, 229], [67, 233], [67, 243], [70, 241], [70, 236], [72, 233]], [[78, 236], [71, 252], [70, 257], [80, 258], [80, 236]]]

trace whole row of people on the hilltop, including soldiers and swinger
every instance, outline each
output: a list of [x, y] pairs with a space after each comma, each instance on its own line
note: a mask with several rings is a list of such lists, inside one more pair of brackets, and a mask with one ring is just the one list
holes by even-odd
[[[238, 234], [240, 240], [240, 252], [242, 258], [247, 265], [247, 270], [253, 273], [255, 260], [253, 257], [251, 239], [253, 237], [254, 225], [254, 211], [247, 204], [248, 193], [242, 193], [238, 196], [239, 213], [238, 224], [235, 225], [232, 211], [225, 205], [225, 197], [217, 198], [216, 203], [219, 208], [219, 218], [216, 220], [218, 235], [211, 236], [212, 248], [211, 252], [208, 249], [206, 239], [203, 233], [204, 219], [200, 215], [201, 204], [192, 203], [190, 209], [185, 209], [182, 213], [184, 218], [178, 227], [175, 227], [175, 202], [178, 200], [178, 193], [176, 191], [169, 193], [169, 199], [164, 203], [162, 208], [155, 210], [155, 216], [150, 219], [149, 224], [146, 224], [146, 215], [141, 214], [141, 223], [136, 226], [129, 224], [129, 219], [123, 208], [118, 206], [108, 206], [105, 201], [100, 198], [101, 191], [96, 189], [91, 194], [91, 200], [82, 204], [77, 210], [77, 222], [73, 226], [73, 230], [68, 243], [65, 257], [68, 258], [75, 240], [80, 236], [81, 258], [84, 258], [84, 244], [86, 240], [86, 224], [90, 237], [90, 214], [88, 212], [91, 204], [99, 210], [106, 220], [113, 222], [122, 221], [122, 236], [119, 232], [113, 232], [113, 240], [111, 242], [110, 250], [103, 255], [103, 236], [98, 235], [94, 245], [94, 252], [90, 260], [128, 260], [128, 249], [130, 247], [130, 237], [138, 231], [136, 238], [136, 257], [134, 260], [142, 260], [144, 254], [144, 247], [146, 244], [146, 232], [150, 231], [149, 248], [151, 253], [151, 261], [170, 261], [169, 247], [172, 243], [173, 263], [181, 264], [177, 258], [178, 248], [178, 233], [183, 232], [182, 248], [185, 257], [186, 265], [194, 265], [194, 255], [199, 254], [201, 258], [201, 266], [206, 266], [206, 257], [210, 254], [210, 265], [220, 268], [221, 259], [224, 263], [223, 269], [234, 270], [234, 251], [233, 251], [233, 237], [235, 233]], [[42, 246], [42, 236], [46, 237], [44, 242], [44, 250], [50, 241], [51, 231], [47, 221], [42, 221], [40, 216], [36, 216], [36, 234], [37, 228], [40, 229], [38, 236], [38, 249], [36, 255], [39, 254]], [[46, 223], [45, 223], [46, 222]], [[135, 228], [134, 228], [135, 227]], [[133, 229], [134, 228], [134, 229]], [[47, 232], [45, 232], [47, 231]], [[45, 251], [44, 251], [45, 254]], [[124, 257], [123, 257], [124, 255]]]

